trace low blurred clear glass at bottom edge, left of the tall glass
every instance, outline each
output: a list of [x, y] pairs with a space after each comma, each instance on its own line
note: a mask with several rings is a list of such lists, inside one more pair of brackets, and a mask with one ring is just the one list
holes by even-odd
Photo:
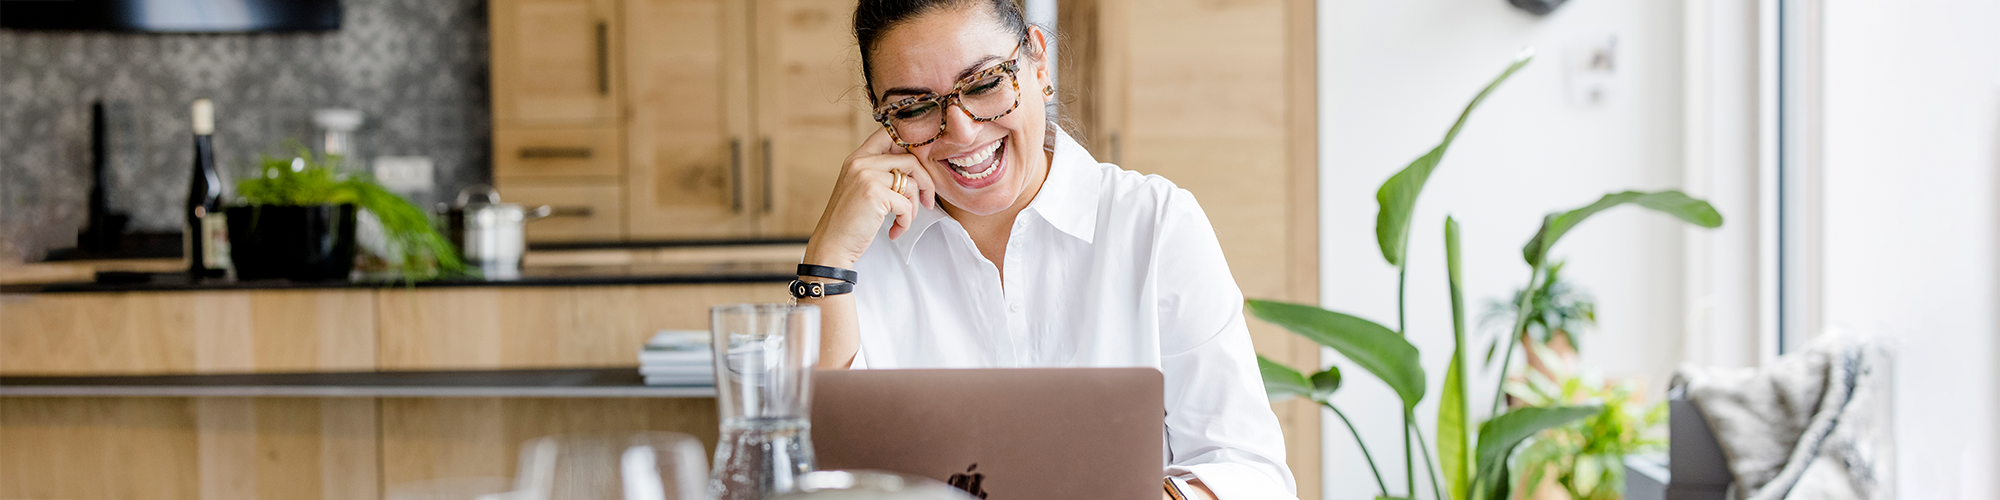
[[708, 500], [702, 442], [678, 432], [564, 434], [520, 446], [510, 498]]

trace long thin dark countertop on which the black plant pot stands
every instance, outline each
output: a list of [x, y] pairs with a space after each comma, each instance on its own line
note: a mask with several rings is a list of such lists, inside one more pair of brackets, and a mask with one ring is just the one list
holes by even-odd
[[322, 288], [462, 288], [462, 286], [622, 286], [622, 284], [784, 284], [796, 278], [796, 264], [784, 262], [724, 262], [724, 264], [626, 264], [626, 266], [530, 266], [520, 278], [444, 278], [406, 282], [400, 276], [364, 276], [360, 280], [290, 282], [290, 280], [198, 280], [182, 272], [126, 274], [130, 282], [54, 282], [6, 284], [0, 294], [54, 292], [200, 292], [200, 290], [322, 290]]

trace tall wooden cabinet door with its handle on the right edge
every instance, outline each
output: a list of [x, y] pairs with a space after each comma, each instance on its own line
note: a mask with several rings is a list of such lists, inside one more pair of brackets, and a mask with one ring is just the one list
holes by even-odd
[[750, 8], [626, 0], [628, 230], [634, 240], [756, 230]]

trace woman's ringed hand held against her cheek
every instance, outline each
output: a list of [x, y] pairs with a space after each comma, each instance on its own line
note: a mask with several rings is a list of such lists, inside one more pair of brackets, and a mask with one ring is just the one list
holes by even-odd
[[[896, 172], [908, 174], [902, 192], [892, 190]], [[806, 244], [806, 264], [854, 268], [882, 220], [894, 216], [888, 238], [902, 238], [916, 224], [916, 206], [938, 206], [930, 172], [908, 150], [890, 140], [888, 130], [876, 130], [840, 166], [840, 180], [826, 200], [820, 226]]]

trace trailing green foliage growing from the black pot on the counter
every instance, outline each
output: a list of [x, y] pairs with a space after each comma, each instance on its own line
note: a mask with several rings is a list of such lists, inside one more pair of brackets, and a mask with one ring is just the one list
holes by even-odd
[[382, 232], [402, 258], [404, 278], [436, 278], [466, 270], [458, 248], [422, 208], [388, 192], [368, 174], [338, 172], [340, 156], [312, 156], [304, 146], [290, 158], [264, 156], [254, 178], [236, 182], [246, 206], [354, 204], [382, 220]]

